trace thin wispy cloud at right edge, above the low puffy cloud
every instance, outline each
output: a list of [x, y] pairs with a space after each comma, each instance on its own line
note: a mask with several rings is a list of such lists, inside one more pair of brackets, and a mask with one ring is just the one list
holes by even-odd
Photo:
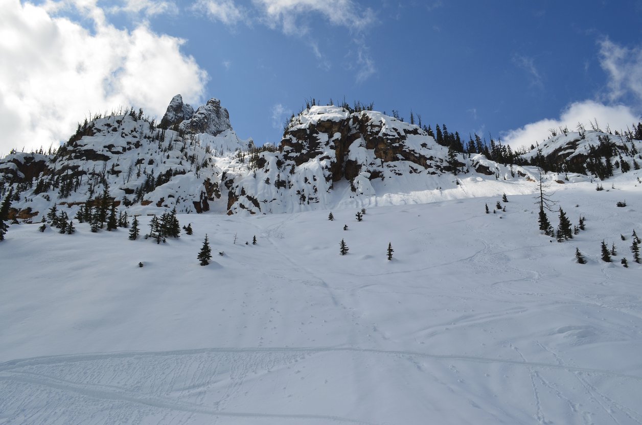
[[609, 39], [600, 46], [600, 65], [609, 75], [610, 101], [632, 94], [642, 104], [642, 47], [625, 48]]

